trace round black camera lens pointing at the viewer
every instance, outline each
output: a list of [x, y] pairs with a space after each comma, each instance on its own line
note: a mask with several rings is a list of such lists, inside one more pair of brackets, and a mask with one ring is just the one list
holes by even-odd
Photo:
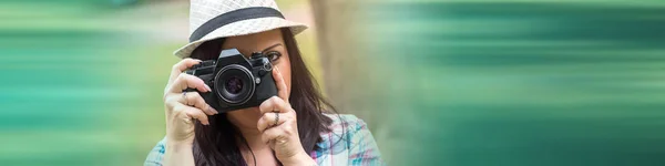
[[254, 94], [254, 76], [238, 64], [222, 68], [215, 76], [217, 96], [228, 105], [241, 105]]

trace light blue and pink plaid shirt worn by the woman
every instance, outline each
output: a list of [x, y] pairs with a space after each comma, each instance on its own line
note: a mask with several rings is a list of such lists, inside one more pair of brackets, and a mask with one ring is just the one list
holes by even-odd
[[[327, 116], [332, 120], [331, 131], [321, 133], [323, 142], [318, 143], [320, 148], [309, 153], [319, 166], [386, 165], [362, 120], [354, 115], [339, 115], [342, 120], [336, 115], [327, 114]], [[147, 155], [144, 165], [161, 166], [165, 148], [165, 139], [160, 141]]]

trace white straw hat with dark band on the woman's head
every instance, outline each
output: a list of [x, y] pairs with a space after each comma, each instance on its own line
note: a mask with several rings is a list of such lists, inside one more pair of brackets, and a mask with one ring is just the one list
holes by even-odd
[[188, 58], [203, 42], [289, 28], [294, 34], [307, 25], [288, 21], [273, 0], [191, 0], [190, 43], [173, 52]]

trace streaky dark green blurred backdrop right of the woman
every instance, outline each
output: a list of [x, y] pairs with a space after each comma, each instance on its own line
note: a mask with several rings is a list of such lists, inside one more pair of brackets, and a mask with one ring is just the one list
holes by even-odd
[[391, 164], [665, 165], [665, 1], [360, 7]]

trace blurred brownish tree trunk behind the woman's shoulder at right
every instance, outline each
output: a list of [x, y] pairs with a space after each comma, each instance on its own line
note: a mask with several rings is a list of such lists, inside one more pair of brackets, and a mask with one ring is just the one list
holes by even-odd
[[368, 73], [364, 70], [366, 66], [362, 64], [366, 63], [357, 48], [359, 41], [352, 34], [357, 3], [350, 0], [310, 0], [310, 4], [317, 28], [326, 95], [338, 111], [371, 121], [365, 102], [371, 97], [371, 90], [367, 89]]

